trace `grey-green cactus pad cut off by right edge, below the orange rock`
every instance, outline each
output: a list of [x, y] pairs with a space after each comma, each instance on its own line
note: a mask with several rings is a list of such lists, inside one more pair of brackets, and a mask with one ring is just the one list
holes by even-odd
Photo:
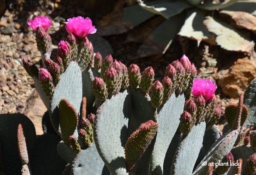
[[256, 125], [256, 79], [254, 79], [244, 92], [244, 104], [249, 110], [248, 118], [244, 127]]

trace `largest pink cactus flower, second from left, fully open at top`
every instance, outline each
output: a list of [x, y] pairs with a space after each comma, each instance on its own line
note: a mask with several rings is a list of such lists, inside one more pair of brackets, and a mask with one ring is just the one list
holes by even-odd
[[69, 34], [73, 33], [76, 37], [82, 39], [88, 34], [96, 33], [95, 26], [92, 26], [92, 21], [90, 18], [85, 18], [78, 16], [74, 18], [69, 18], [68, 22], [65, 22], [66, 30]]

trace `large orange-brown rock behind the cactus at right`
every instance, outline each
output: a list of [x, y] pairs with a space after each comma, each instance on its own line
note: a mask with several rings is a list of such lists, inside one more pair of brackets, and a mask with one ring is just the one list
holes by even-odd
[[231, 98], [239, 98], [256, 77], [256, 67], [251, 61], [238, 59], [228, 71], [220, 71], [218, 77], [218, 85], [223, 93]]

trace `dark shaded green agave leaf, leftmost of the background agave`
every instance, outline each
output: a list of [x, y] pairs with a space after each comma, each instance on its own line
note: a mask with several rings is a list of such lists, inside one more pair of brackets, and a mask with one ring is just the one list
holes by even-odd
[[132, 24], [132, 27], [136, 27], [154, 15], [154, 13], [141, 8], [140, 5], [136, 5], [124, 9], [124, 16], [122, 20], [129, 21]]

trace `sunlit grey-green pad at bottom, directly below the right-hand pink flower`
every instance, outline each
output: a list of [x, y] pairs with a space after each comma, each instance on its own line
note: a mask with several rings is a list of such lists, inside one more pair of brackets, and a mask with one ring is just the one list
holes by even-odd
[[188, 135], [183, 135], [172, 161], [170, 175], [192, 174], [202, 146], [206, 123], [194, 125]]

